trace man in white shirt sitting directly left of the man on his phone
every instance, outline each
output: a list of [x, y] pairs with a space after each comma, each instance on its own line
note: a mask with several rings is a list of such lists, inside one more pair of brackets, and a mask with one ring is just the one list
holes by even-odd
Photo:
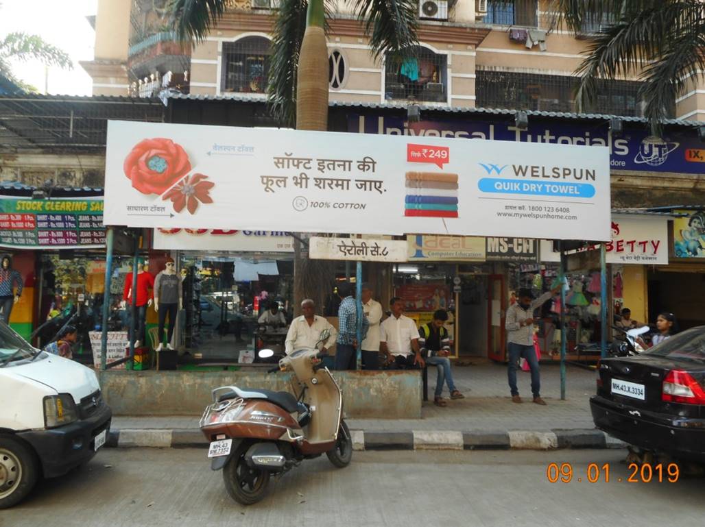
[[392, 316], [379, 326], [380, 349], [387, 356], [387, 364], [398, 368], [423, 368], [419, 330], [411, 318], [402, 314], [403, 300], [393, 297], [389, 306]]

